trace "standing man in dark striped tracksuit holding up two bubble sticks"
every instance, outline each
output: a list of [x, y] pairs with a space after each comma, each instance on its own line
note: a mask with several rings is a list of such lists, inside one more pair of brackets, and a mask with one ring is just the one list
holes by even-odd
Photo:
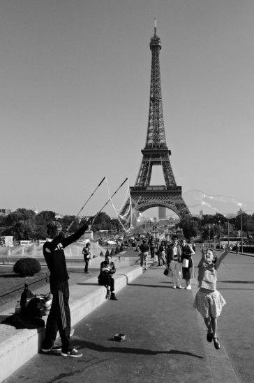
[[[66, 258], [63, 249], [69, 244], [77, 241], [87, 230], [87, 224], [81, 226], [73, 235], [65, 237], [61, 231], [61, 225], [52, 221], [47, 225], [47, 234], [53, 240], [47, 239], [43, 245], [43, 255], [47, 267], [50, 270], [50, 290], [53, 295], [50, 314], [47, 318], [43, 352], [60, 351], [63, 357], [82, 357], [82, 353], [70, 345], [70, 308], [69, 308], [69, 286]], [[61, 347], [54, 345], [59, 331]]]

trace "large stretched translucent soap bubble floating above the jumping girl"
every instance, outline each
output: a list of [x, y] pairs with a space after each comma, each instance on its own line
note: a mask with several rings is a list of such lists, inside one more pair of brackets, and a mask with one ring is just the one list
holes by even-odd
[[237, 201], [229, 196], [213, 196], [200, 190], [189, 190], [183, 194], [191, 214], [222, 214], [227, 219], [235, 218], [241, 212], [253, 214], [254, 202]]

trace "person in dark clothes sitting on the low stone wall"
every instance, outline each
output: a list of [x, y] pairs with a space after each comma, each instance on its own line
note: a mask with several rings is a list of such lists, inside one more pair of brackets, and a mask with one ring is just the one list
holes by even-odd
[[112, 301], [118, 301], [116, 295], [114, 294], [113, 274], [115, 272], [116, 267], [114, 266], [114, 262], [112, 262], [111, 260], [111, 256], [105, 256], [105, 260], [102, 263], [100, 263], [100, 275], [98, 276], [98, 283], [101, 286], [106, 286], [106, 299], [111, 299]]

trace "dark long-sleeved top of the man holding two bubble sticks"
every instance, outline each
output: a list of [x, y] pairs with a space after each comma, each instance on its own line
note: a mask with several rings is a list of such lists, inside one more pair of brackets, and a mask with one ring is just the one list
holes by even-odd
[[76, 233], [66, 238], [63, 233], [60, 233], [54, 240], [45, 242], [43, 245], [43, 256], [46, 260], [47, 267], [50, 270], [50, 286], [56, 287], [59, 283], [68, 281], [69, 276], [63, 249], [69, 244], [77, 241], [87, 228], [87, 224], [84, 224], [76, 231]]

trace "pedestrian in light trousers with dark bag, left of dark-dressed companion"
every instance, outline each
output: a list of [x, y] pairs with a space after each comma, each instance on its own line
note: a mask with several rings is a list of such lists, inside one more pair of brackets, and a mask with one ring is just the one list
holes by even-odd
[[172, 243], [167, 247], [167, 268], [172, 269], [172, 288], [181, 287], [181, 246], [178, 243], [178, 235], [172, 236]]

